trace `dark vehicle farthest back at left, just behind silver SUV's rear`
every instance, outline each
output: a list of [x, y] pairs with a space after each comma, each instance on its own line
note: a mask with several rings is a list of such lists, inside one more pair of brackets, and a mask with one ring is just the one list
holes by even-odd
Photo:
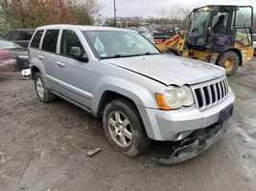
[[7, 32], [3, 39], [12, 41], [21, 47], [28, 48], [34, 32], [35, 30], [33, 29], [12, 30]]

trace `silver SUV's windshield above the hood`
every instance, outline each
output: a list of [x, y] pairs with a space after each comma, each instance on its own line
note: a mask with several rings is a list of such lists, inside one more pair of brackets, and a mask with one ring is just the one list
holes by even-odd
[[137, 32], [84, 31], [93, 49], [101, 58], [126, 57], [160, 53]]

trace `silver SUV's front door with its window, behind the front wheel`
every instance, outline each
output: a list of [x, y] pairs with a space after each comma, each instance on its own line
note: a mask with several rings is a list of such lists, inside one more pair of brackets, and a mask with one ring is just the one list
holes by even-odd
[[63, 30], [56, 59], [59, 80], [58, 92], [90, 109], [92, 64], [79, 61], [72, 56], [70, 53], [71, 47], [80, 47], [81, 52], [85, 53], [79, 35], [71, 30]]

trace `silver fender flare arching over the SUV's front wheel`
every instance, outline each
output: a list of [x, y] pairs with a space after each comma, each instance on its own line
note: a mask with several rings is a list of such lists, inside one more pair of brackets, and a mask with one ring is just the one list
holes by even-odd
[[144, 123], [149, 138], [155, 139], [159, 135], [158, 129], [151, 126], [151, 120], [146, 108], [159, 109], [154, 94], [146, 87], [114, 76], [104, 76], [95, 85], [93, 90], [92, 114], [97, 116], [102, 96], [106, 91], [111, 91], [131, 99], [137, 106], [140, 117]]

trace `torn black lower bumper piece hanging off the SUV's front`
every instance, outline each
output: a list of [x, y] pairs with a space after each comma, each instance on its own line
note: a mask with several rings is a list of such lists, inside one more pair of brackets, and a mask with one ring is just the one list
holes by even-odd
[[207, 127], [193, 132], [189, 137], [175, 142], [173, 152], [169, 159], [154, 159], [160, 164], [169, 165], [192, 159], [201, 152], [208, 149], [219, 140], [231, 124], [233, 114], [233, 104], [225, 108], [220, 114], [220, 120]]

